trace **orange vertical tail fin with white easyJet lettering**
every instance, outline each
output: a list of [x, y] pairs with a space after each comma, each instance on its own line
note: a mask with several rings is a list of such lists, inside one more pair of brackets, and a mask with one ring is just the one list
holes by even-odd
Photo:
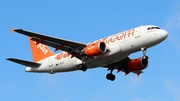
[[31, 40], [31, 37], [29, 37], [29, 41], [34, 62], [38, 62], [54, 54], [48, 46], [42, 43], [36, 44], [35, 41]]

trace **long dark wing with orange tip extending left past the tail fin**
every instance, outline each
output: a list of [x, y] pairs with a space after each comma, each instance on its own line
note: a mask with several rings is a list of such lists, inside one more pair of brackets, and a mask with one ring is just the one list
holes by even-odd
[[[80, 50], [86, 47], [86, 44], [80, 42], [69, 41], [65, 39], [55, 38], [43, 34], [38, 34], [34, 32], [29, 32], [23, 29], [11, 29], [13, 32], [18, 32], [20, 34], [32, 37], [31, 40], [36, 41], [38, 43], [46, 44], [50, 47], [55, 48], [57, 50], [63, 50], [68, 52], [69, 54], [77, 54], [80, 53]], [[81, 58], [80, 55], [76, 55], [77, 58]]]

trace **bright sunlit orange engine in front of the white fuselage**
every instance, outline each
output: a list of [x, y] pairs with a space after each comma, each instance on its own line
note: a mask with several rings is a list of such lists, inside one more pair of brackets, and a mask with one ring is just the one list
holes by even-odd
[[104, 42], [92, 43], [84, 48], [86, 56], [97, 56], [106, 52], [106, 44]]

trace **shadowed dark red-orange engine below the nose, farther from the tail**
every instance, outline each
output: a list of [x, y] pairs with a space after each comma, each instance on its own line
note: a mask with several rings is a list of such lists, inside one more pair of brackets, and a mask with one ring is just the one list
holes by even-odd
[[143, 70], [145, 68], [147, 68], [148, 66], [148, 58], [137, 58], [137, 59], [132, 59], [129, 63], [128, 63], [128, 70], [129, 71], [139, 71], [139, 70]]

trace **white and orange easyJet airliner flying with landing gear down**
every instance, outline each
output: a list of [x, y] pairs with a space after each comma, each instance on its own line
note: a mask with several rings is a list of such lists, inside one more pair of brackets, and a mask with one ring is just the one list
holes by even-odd
[[[114, 70], [117, 70], [117, 73], [122, 71], [125, 75], [132, 72], [139, 76], [143, 73], [142, 70], [148, 67], [147, 49], [159, 44], [168, 36], [166, 30], [156, 25], [145, 25], [85, 44], [23, 29], [11, 28], [11, 31], [29, 38], [33, 62], [7, 58], [9, 61], [27, 66], [25, 72], [50, 74], [76, 70], [85, 72], [87, 69], [102, 67], [109, 71], [106, 79], [110, 81], [116, 78]], [[55, 48], [55, 51], [62, 51], [54, 54], [48, 46]], [[142, 51], [141, 57], [135, 59], [128, 57], [138, 51]]]

